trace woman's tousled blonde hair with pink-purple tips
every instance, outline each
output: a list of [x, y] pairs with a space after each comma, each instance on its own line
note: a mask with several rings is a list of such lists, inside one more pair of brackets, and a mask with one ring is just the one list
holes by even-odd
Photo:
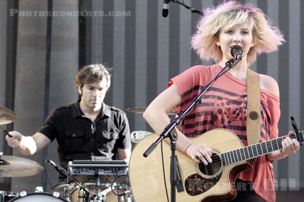
[[278, 46], [285, 41], [280, 30], [271, 25], [260, 9], [252, 4], [229, 1], [204, 11], [204, 16], [197, 24], [198, 30], [192, 36], [192, 47], [201, 59], [213, 59], [218, 63], [222, 59], [221, 49], [216, 45], [220, 31], [245, 23], [252, 27], [254, 44], [247, 55], [248, 66], [255, 61], [257, 54], [277, 51]]

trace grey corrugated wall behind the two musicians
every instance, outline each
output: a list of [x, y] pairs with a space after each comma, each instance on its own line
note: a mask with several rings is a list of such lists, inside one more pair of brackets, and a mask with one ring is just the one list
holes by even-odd
[[[203, 10], [221, 1], [202, 0], [184, 3]], [[289, 116], [294, 116], [301, 129], [304, 125], [304, 98], [301, 68], [304, 64], [304, 3], [300, 0], [248, 0], [268, 15], [285, 35], [286, 43], [279, 52], [260, 55], [252, 69], [274, 77], [281, 91], [280, 135], [292, 129]], [[170, 3], [169, 16], [162, 17], [163, 1], [123, 0], [2, 0], [0, 1], [0, 106], [17, 115], [8, 125], [25, 135], [33, 134], [46, 116], [57, 106], [74, 102], [77, 91], [74, 78], [80, 66], [104, 63], [112, 67], [112, 85], [105, 102], [120, 109], [146, 107], [173, 76], [187, 68], [212, 61], [201, 61], [189, 42], [200, 18], [185, 8]], [[22, 17], [10, 16], [11, 9], [20, 11], [115, 11], [114, 16]], [[120, 16], [127, 11], [127, 16]], [[127, 112], [130, 129], [151, 130], [141, 114]], [[39, 154], [26, 157], [44, 164], [57, 160], [57, 143]], [[0, 151], [20, 156], [0, 137]], [[292, 199], [304, 188], [304, 156], [297, 154], [277, 161], [275, 178], [280, 197]], [[57, 173], [49, 168], [53, 182]], [[31, 183], [28, 184], [28, 181]], [[0, 178], [0, 189], [33, 191], [47, 187], [45, 174], [25, 178]], [[49, 187], [47, 187], [49, 191]], [[280, 195], [281, 194], [281, 195]], [[297, 198], [295, 198], [297, 199]]]

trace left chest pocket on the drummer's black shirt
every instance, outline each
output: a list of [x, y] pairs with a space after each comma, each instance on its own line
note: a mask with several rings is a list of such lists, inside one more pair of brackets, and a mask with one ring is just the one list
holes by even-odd
[[66, 132], [67, 152], [79, 152], [84, 147], [83, 131], [67, 131]]

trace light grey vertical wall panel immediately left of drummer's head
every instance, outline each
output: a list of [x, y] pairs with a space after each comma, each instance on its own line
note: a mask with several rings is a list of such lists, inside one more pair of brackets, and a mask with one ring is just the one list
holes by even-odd
[[[73, 0], [54, 0], [53, 10], [78, 11], [78, 3], [75, 3]], [[79, 69], [78, 24], [78, 16], [57, 16], [52, 18], [49, 113], [52, 113], [59, 106], [74, 103], [78, 99], [78, 91], [75, 87], [75, 77]], [[57, 141], [54, 140], [47, 149], [47, 157], [45, 158], [51, 157], [52, 161], [59, 163]], [[57, 171], [52, 167], [49, 168], [52, 182], [57, 183]], [[48, 190], [50, 190], [49, 183], [47, 184]]]

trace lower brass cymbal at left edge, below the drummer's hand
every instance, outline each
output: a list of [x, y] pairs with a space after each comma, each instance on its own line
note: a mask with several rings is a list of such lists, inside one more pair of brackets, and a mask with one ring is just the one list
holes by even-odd
[[0, 158], [0, 177], [26, 177], [44, 170], [39, 163], [29, 159], [5, 155]]

